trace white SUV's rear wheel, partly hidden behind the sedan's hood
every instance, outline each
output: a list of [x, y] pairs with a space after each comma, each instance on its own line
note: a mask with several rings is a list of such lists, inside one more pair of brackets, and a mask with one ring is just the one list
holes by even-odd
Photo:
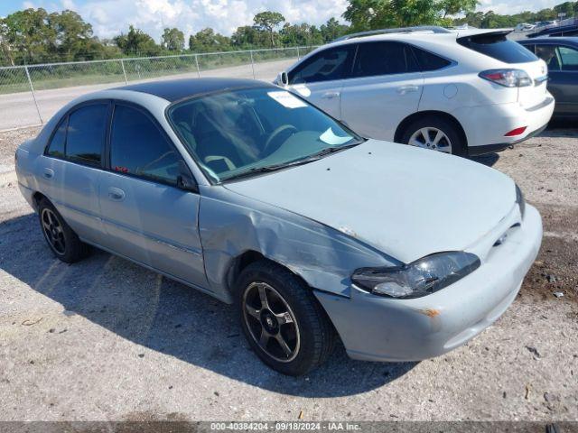
[[415, 120], [406, 128], [401, 141], [433, 151], [458, 156], [467, 155], [467, 147], [461, 131], [444, 118], [426, 116], [423, 119]]

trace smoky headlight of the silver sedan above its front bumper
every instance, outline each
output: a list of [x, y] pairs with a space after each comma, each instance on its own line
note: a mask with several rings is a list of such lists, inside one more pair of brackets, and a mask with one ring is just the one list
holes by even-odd
[[412, 299], [441, 290], [478, 267], [480, 259], [472, 253], [435, 253], [403, 266], [360, 268], [351, 281], [376, 295]]

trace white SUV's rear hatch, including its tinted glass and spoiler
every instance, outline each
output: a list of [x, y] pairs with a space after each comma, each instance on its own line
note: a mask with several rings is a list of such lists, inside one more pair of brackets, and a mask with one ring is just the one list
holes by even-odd
[[517, 88], [517, 102], [527, 109], [542, 104], [546, 97], [548, 69], [545, 61], [516, 41], [507, 39], [509, 30], [476, 32], [457, 38], [460, 45], [506, 63], [505, 69], [521, 69], [531, 79], [529, 86]]

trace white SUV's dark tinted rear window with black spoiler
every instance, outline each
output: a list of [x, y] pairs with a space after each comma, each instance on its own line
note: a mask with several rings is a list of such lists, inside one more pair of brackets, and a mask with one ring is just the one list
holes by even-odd
[[504, 34], [479, 34], [459, 38], [458, 43], [506, 63], [527, 63], [538, 60], [534, 53], [527, 51], [515, 41], [509, 41]]

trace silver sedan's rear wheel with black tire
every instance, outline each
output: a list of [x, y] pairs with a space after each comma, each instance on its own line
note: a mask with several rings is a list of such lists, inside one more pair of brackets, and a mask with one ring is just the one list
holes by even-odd
[[[56, 207], [47, 198], [42, 198], [38, 204], [40, 228], [51, 252], [64, 263], [75, 263], [89, 254], [89, 245], [80, 241]], [[55, 218], [53, 229], [47, 225], [51, 218]], [[55, 239], [58, 241], [55, 242]]]

